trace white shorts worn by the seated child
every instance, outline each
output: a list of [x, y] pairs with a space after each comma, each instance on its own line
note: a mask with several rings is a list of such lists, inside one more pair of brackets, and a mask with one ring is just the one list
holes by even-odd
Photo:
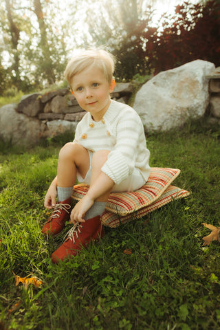
[[[77, 173], [77, 180], [80, 184], [90, 185], [91, 158], [94, 154], [91, 153], [91, 151], [88, 151], [88, 152], [89, 152], [89, 158], [90, 158], [89, 170], [84, 179], [83, 179], [83, 177], [81, 177], [81, 175], [79, 173]], [[129, 175], [129, 177], [126, 177], [126, 179], [122, 180], [120, 182], [120, 184], [115, 184], [115, 186], [113, 186], [113, 189], [111, 191], [112, 192], [134, 191], [134, 190], [137, 190], [137, 189], [141, 188], [142, 186], [144, 186], [145, 183], [146, 183], [146, 180], [144, 179], [140, 170], [138, 168], [134, 168], [133, 173], [131, 175]]]

